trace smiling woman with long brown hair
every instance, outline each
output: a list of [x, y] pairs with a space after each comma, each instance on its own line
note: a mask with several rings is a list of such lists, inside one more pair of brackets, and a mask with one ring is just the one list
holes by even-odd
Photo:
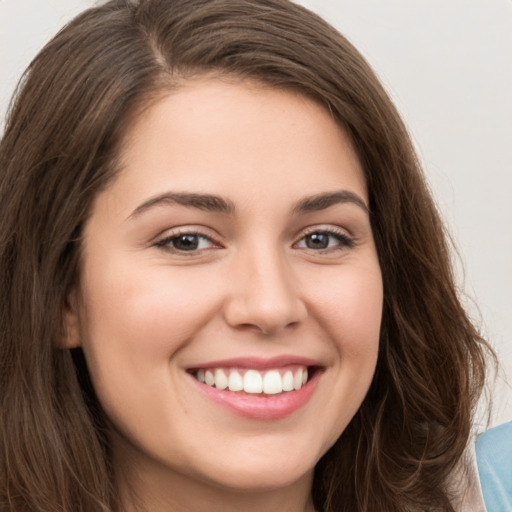
[[113, 0], [0, 151], [2, 510], [454, 510], [486, 344], [407, 132], [282, 0]]

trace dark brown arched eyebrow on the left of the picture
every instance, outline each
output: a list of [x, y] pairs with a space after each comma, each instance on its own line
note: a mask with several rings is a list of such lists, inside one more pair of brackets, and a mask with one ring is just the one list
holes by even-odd
[[166, 192], [156, 197], [152, 197], [148, 201], [145, 201], [128, 217], [138, 217], [147, 210], [161, 205], [174, 205], [186, 206], [188, 208], [197, 208], [198, 210], [205, 210], [208, 212], [219, 212], [219, 213], [233, 213], [235, 211], [235, 205], [228, 199], [224, 199], [219, 196], [211, 194], [193, 194], [188, 192]]

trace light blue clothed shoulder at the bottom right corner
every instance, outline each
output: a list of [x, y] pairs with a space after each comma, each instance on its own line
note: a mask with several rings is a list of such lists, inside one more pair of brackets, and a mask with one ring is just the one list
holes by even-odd
[[489, 512], [512, 510], [512, 421], [491, 428], [476, 441], [478, 473]]

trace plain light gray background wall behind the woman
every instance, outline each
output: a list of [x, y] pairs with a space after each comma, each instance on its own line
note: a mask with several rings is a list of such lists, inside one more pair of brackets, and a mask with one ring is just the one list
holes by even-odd
[[[405, 118], [454, 235], [467, 306], [512, 419], [512, 0], [300, 0], [366, 56]], [[92, 0], [0, 0], [0, 116], [41, 46]], [[1, 220], [0, 220], [1, 221]]]

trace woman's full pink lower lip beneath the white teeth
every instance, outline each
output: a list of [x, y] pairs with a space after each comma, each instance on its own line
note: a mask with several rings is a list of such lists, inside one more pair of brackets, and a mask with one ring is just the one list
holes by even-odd
[[254, 420], [278, 420], [293, 414], [309, 401], [316, 388], [319, 373], [315, 372], [299, 390], [267, 396], [219, 390], [192, 376], [191, 378], [208, 398], [239, 416]]

